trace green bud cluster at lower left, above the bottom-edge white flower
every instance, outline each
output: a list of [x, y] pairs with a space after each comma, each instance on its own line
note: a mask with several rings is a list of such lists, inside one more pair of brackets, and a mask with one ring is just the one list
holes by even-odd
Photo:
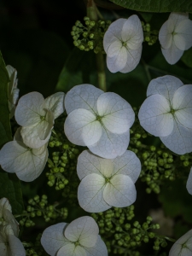
[[45, 222], [49, 222], [51, 219], [55, 218], [67, 218], [68, 210], [66, 207], [61, 209], [56, 209], [58, 206], [57, 203], [54, 205], [48, 205], [47, 195], [42, 195], [40, 198], [39, 195], [35, 195], [32, 199], [28, 201], [28, 206], [26, 211], [23, 211], [22, 216], [24, 218], [20, 219], [20, 225], [26, 227], [34, 226], [34, 222], [31, 218], [35, 217], [44, 217]]

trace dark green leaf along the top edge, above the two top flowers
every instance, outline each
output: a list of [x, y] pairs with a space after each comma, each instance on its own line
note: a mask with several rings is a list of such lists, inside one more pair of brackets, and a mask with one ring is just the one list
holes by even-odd
[[110, 0], [127, 9], [143, 12], [192, 12], [192, 4], [189, 0]]

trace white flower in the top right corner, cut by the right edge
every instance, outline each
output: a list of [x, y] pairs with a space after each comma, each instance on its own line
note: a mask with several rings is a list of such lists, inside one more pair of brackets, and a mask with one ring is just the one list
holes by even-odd
[[192, 21], [184, 13], [171, 13], [161, 26], [159, 39], [162, 54], [169, 64], [175, 64], [184, 50], [192, 46]]

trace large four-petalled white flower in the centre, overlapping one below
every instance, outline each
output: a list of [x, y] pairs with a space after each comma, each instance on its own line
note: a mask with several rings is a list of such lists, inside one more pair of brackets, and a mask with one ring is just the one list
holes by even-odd
[[70, 142], [108, 159], [125, 153], [135, 113], [123, 98], [81, 84], [67, 92], [65, 108], [64, 130]]

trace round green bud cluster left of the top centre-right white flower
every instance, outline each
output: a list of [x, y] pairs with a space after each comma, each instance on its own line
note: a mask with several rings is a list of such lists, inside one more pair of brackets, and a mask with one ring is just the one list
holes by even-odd
[[89, 51], [93, 49], [97, 54], [103, 51], [103, 37], [111, 24], [110, 20], [90, 20], [84, 17], [84, 25], [77, 20], [72, 28], [73, 44], [81, 50]]

